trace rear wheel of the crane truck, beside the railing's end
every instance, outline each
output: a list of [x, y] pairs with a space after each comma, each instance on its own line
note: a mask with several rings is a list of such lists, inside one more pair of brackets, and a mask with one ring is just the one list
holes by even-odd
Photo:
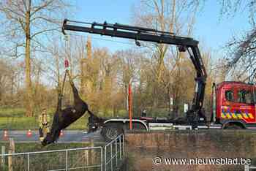
[[100, 132], [107, 142], [114, 140], [119, 134], [123, 134], [124, 131], [121, 126], [118, 125], [106, 125]]

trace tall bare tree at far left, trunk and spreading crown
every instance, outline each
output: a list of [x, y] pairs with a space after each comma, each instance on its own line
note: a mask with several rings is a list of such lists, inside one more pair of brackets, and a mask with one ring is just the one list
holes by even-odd
[[[4, 16], [3, 34], [10, 40], [12, 56], [25, 55], [26, 64], [26, 115], [33, 115], [31, 85], [31, 45], [33, 49], [45, 47], [46, 34], [59, 28], [67, 3], [64, 0], [14, 0], [1, 1], [0, 12]], [[25, 41], [23, 41], [25, 39]], [[25, 49], [23, 49], [25, 48]]]

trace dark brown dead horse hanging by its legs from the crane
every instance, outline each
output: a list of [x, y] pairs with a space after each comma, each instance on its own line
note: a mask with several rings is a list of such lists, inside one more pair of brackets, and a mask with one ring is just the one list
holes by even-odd
[[83, 100], [80, 99], [80, 96], [78, 95], [78, 89], [75, 88], [75, 85], [72, 82], [72, 80], [69, 79], [69, 81], [74, 95], [74, 105], [72, 107], [67, 107], [64, 110], [61, 110], [62, 95], [59, 94], [57, 109], [53, 117], [53, 123], [50, 129], [50, 133], [48, 133], [45, 139], [42, 141], [42, 145], [44, 146], [56, 142], [61, 133], [61, 129], [65, 129], [71, 123], [77, 121], [78, 118], [80, 118], [84, 113], [86, 113], [86, 111], [90, 115], [94, 115], [89, 110], [88, 104], [86, 104], [86, 102], [83, 102]]

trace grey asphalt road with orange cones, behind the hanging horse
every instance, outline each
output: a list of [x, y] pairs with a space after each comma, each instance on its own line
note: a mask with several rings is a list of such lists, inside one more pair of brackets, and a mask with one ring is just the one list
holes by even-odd
[[[28, 131], [8, 131], [8, 137], [12, 137], [15, 142], [39, 142], [38, 131], [32, 130], [31, 136], [28, 136]], [[0, 141], [6, 141], [8, 138], [4, 137], [4, 131], [0, 131]], [[104, 142], [103, 137], [97, 132], [87, 133], [82, 130], [65, 131], [63, 135], [59, 137], [58, 142], [88, 142], [90, 140], [94, 142]]]

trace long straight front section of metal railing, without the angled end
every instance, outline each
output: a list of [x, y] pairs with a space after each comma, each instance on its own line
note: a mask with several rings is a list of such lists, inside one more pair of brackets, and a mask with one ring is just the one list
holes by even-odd
[[[100, 152], [100, 159], [97, 164], [89, 163], [88, 151]], [[73, 148], [55, 151], [37, 151], [28, 153], [7, 153], [1, 154], [1, 158], [7, 157], [8, 164], [12, 170], [77, 170], [83, 168], [100, 168], [103, 170], [103, 149], [102, 147]], [[10, 166], [10, 159], [12, 166]], [[7, 161], [4, 159], [4, 161]], [[59, 168], [60, 166], [64, 166]], [[4, 168], [3, 168], [4, 169]]]

